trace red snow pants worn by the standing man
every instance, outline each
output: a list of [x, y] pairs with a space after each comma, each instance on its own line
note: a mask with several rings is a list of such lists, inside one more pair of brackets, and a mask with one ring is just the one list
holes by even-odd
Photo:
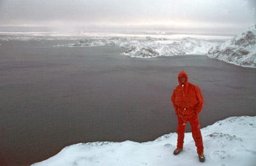
[[[201, 131], [200, 131], [200, 123], [199, 123], [199, 120], [198, 120], [198, 116], [196, 116], [196, 114], [195, 114], [195, 116], [189, 118], [188, 121], [191, 125], [192, 137], [195, 140], [197, 153], [202, 154], [202, 153], [204, 153], [204, 145], [203, 145], [202, 134], [201, 134]], [[178, 129], [177, 129], [178, 143], [177, 143], [177, 147], [179, 149], [183, 149], [184, 133], [185, 133], [185, 130], [186, 130], [186, 125], [182, 125], [182, 124], [184, 124], [184, 121], [183, 121], [182, 117], [178, 116]]]

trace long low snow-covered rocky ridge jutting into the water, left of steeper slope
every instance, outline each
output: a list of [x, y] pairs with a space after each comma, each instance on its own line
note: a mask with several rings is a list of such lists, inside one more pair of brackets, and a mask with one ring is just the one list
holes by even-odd
[[204, 41], [197, 38], [182, 38], [181, 40], [168, 40], [166, 38], [105, 38], [80, 40], [78, 43], [56, 45], [56, 47], [93, 47], [118, 46], [128, 50], [123, 54], [131, 57], [157, 57], [186, 54], [206, 54], [212, 46], [218, 45], [216, 41]]

